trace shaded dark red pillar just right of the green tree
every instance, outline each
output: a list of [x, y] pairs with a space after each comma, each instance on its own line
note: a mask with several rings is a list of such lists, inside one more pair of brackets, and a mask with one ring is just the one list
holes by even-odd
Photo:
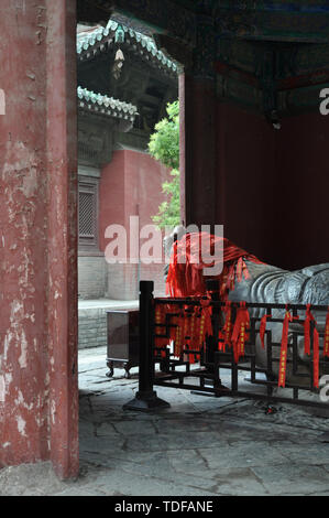
[[187, 225], [216, 223], [215, 82], [179, 76], [182, 219]]

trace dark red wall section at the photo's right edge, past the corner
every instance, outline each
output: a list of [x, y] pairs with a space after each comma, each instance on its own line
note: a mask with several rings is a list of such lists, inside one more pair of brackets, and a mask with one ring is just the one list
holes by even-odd
[[329, 262], [329, 116], [308, 114], [283, 122], [277, 140], [277, 209], [287, 266]]

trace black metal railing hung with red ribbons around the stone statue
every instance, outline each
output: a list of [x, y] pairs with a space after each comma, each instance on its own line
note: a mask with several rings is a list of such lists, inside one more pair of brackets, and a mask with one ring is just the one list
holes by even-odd
[[[314, 365], [318, 363], [320, 373], [328, 370], [329, 361], [323, 357], [323, 332], [319, 332], [320, 347], [319, 358], [315, 355], [314, 330], [315, 321], [309, 322], [310, 355], [307, 358], [300, 357], [300, 344], [298, 338], [305, 336], [303, 314], [306, 313], [306, 305], [297, 304], [272, 304], [272, 303], [246, 303], [245, 307], [250, 314], [250, 327], [248, 339], [244, 344], [244, 354], [237, 361], [233, 347], [222, 347], [222, 328], [224, 324], [223, 307], [224, 302], [219, 301], [218, 281], [207, 282], [209, 306], [211, 307], [212, 336], [207, 336], [201, 347], [191, 349], [188, 346], [189, 337], [184, 336], [185, 342], [177, 352], [169, 346], [156, 346], [156, 342], [169, 344], [173, 330], [177, 327], [177, 316], [182, 312], [191, 314], [196, 307], [202, 306], [205, 298], [187, 299], [154, 299], [153, 282], [142, 281], [140, 283], [140, 377], [139, 392], [133, 401], [124, 406], [125, 409], [149, 410], [150, 408], [168, 406], [160, 400], [154, 391], [154, 386], [179, 388], [197, 391], [198, 393], [213, 395], [215, 397], [243, 397], [263, 400], [267, 404], [275, 402], [288, 402], [300, 406], [323, 408], [328, 403], [321, 401], [319, 388], [315, 385]], [[240, 303], [231, 304], [232, 325], [237, 319]], [[155, 311], [162, 309], [165, 315], [163, 322], [155, 322]], [[265, 331], [265, 347], [263, 349], [263, 361], [260, 366], [256, 355], [257, 335], [260, 334], [261, 316], [255, 315], [252, 310], [265, 310], [267, 315], [267, 328]], [[316, 314], [326, 315], [328, 307], [312, 305], [308, 307]], [[279, 311], [281, 310], [281, 311]], [[273, 339], [271, 324], [283, 324], [284, 314], [289, 311], [294, 319], [298, 319], [298, 324], [290, 325], [290, 339], [287, 345], [287, 370], [289, 376], [285, 387], [277, 391], [277, 371], [279, 367], [281, 342]], [[221, 350], [220, 350], [221, 349]], [[264, 360], [265, 357], [265, 360]], [[329, 359], [329, 358], [328, 358]], [[191, 363], [193, 360], [193, 363]], [[194, 364], [197, 361], [197, 365]], [[160, 371], [155, 371], [155, 365], [160, 364]], [[220, 373], [226, 373], [226, 384], [222, 382]], [[249, 375], [248, 382], [241, 376]], [[329, 370], [328, 370], [329, 373]], [[228, 374], [230, 375], [228, 377]], [[227, 382], [229, 379], [229, 384]], [[309, 396], [312, 395], [310, 398]]]

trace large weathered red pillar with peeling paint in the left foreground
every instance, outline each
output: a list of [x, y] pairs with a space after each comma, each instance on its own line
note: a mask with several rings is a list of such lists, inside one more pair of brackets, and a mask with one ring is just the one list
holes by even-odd
[[0, 465], [78, 473], [75, 0], [0, 7]]

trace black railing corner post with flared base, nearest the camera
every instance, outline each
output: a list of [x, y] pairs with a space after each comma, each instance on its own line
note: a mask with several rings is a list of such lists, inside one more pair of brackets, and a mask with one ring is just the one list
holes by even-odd
[[140, 282], [140, 366], [139, 391], [135, 398], [123, 406], [123, 410], [149, 410], [169, 408], [169, 403], [160, 399], [153, 390], [154, 360], [154, 306], [153, 281]]

